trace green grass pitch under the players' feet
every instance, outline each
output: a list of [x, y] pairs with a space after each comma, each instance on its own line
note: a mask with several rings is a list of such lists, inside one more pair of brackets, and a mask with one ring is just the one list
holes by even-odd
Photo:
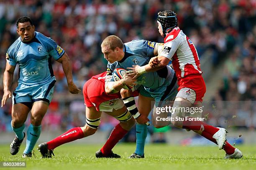
[[[217, 147], [183, 147], [172, 145], [146, 145], [144, 159], [127, 159], [134, 152], [135, 144], [119, 144], [114, 153], [120, 159], [95, 158], [101, 145], [67, 144], [54, 150], [55, 157], [41, 159], [35, 150], [32, 158], [22, 158], [24, 145], [17, 155], [10, 155], [9, 145], [0, 145], [0, 161], [26, 161], [29, 170], [255, 170], [256, 145], [237, 146], [243, 152], [240, 160], [224, 160], [225, 152]], [[0, 168], [17, 169], [17, 168]]]

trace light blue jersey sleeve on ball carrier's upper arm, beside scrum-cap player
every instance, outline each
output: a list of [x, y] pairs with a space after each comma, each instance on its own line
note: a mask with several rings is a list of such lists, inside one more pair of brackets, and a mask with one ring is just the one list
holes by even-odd
[[154, 48], [156, 42], [148, 40], [133, 40], [125, 43], [126, 52], [132, 53], [138, 56], [154, 57]]

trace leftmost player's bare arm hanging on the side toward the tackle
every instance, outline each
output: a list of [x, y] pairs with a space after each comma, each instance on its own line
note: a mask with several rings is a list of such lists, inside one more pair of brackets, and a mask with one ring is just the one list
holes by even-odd
[[65, 52], [64, 55], [57, 61], [62, 64], [63, 71], [67, 78], [69, 92], [72, 94], [78, 94], [81, 92], [81, 90], [77, 88], [73, 82], [71, 61], [69, 60], [67, 53]]

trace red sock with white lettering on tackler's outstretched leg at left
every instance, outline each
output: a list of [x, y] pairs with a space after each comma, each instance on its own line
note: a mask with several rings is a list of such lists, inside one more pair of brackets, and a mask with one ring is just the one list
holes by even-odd
[[47, 148], [54, 149], [64, 143], [69, 143], [77, 139], [81, 139], [84, 137], [84, 133], [80, 127], [72, 128], [57, 138], [47, 142]]

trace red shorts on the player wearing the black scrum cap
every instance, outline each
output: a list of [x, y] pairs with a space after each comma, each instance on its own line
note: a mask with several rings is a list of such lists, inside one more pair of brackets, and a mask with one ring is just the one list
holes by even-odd
[[[205, 81], [202, 75], [191, 75], [184, 78], [180, 78], [178, 80], [178, 85], [178, 91], [180, 91], [181, 89], [186, 89], [186, 91], [184, 91], [184, 95], [187, 95], [187, 97], [189, 97], [189, 95], [192, 96], [192, 93], [195, 92], [195, 97], [193, 100], [202, 102], [206, 92]], [[191, 89], [191, 91], [189, 89]]]

